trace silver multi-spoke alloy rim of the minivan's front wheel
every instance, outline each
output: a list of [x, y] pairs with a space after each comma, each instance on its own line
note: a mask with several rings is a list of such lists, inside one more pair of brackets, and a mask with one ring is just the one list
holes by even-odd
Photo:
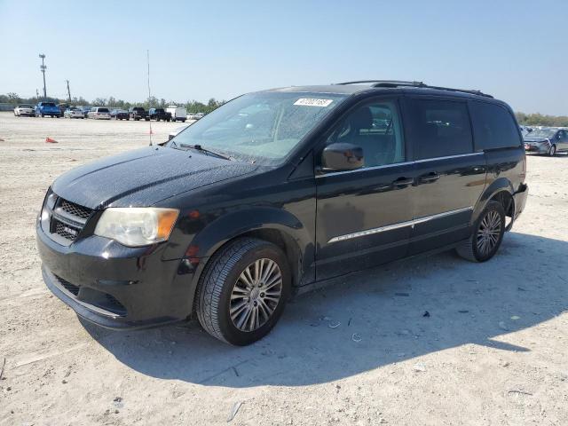
[[271, 259], [258, 259], [241, 272], [231, 293], [229, 313], [234, 327], [252, 332], [264, 326], [282, 294], [282, 272]]

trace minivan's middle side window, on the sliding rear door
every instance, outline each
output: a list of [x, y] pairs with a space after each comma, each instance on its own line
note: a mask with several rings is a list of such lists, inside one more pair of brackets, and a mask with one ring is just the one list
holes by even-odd
[[416, 159], [473, 152], [468, 107], [465, 102], [409, 99]]

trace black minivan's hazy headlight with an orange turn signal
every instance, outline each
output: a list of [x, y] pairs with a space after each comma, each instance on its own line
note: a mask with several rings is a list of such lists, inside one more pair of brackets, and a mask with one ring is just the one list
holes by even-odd
[[177, 209], [109, 208], [99, 218], [95, 235], [130, 247], [167, 241], [178, 214]]

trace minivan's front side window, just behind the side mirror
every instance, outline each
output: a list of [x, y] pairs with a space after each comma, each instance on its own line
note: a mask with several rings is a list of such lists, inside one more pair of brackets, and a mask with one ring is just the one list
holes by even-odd
[[397, 104], [392, 101], [360, 106], [341, 122], [327, 145], [350, 143], [363, 148], [364, 167], [405, 161]]

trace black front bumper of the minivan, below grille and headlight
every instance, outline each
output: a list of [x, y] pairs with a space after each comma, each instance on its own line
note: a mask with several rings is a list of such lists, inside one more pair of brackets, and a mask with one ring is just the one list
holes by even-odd
[[192, 313], [193, 267], [162, 260], [163, 245], [127, 248], [96, 235], [61, 246], [36, 226], [43, 280], [80, 317], [101, 327], [154, 327]]

